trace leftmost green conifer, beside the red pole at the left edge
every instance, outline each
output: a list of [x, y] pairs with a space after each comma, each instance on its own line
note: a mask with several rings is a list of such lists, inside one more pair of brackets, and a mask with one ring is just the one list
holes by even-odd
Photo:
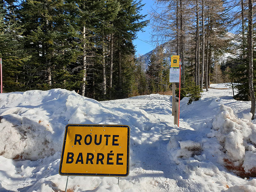
[[4, 90], [6, 92], [26, 90], [24, 65], [30, 59], [24, 50], [22, 24], [20, 23], [19, 9], [16, 1], [4, 4], [6, 14], [4, 16], [4, 37], [6, 45], [3, 45], [3, 73]]

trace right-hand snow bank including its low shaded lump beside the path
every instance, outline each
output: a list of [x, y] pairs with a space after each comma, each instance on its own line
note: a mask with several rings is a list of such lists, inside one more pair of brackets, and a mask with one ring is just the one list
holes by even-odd
[[[250, 114], [244, 116], [251, 117]], [[195, 142], [172, 136], [167, 150], [171, 153], [173, 160], [178, 164], [179, 158], [194, 157], [202, 160], [204, 158], [198, 155], [211, 152], [213, 156], [217, 156], [217, 162], [225, 165], [229, 170], [241, 176], [255, 177], [256, 125], [252, 124], [251, 120], [238, 118], [232, 108], [225, 105], [220, 107], [220, 112], [211, 123], [212, 129], [206, 135], [208, 138], [216, 138], [218, 143], [211, 146], [209, 143], [216, 140], [201, 138]], [[209, 124], [204, 124], [205, 130], [207, 126], [209, 127]]]

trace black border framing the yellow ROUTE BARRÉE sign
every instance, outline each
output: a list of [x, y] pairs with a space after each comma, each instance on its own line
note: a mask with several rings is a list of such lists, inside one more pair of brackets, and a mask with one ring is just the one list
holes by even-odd
[[[63, 156], [64, 156], [64, 149], [65, 144], [67, 140], [67, 133], [68, 133], [68, 127], [126, 127], [127, 128], [127, 166], [126, 166], [126, 173], [125, 174], [106, 174], [106, 173], [63, 173], [61, 172], [62, 169], [62, 163], [63, 163]], [[65, 128], [65, 135], [62, 145], [62, 152], [61, 152], [61, 158], [60, 158], [60, 168], [59, 168], [59, 174], [62, 176], [105, 176], [105, 177], [127, 177], [129, 175], [129, 167], [130, 167], [130, 127], [128, 125], [101, 125], [101, 124], [67, 124]]]

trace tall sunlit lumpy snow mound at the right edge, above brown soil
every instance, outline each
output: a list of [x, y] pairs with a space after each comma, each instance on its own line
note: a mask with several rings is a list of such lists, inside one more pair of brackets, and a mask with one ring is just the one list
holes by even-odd
[[253, 161], [256, 158], [256, 125], [251, 120], [238, 118], [230, 107], [222, 105], [212, 122], [212, 129], [214, 134], [207, 136], [214, 136], [220, 142], [224, 164], [235, 170], [242, 166], [246, 173], [256, 176], [256, 162]]

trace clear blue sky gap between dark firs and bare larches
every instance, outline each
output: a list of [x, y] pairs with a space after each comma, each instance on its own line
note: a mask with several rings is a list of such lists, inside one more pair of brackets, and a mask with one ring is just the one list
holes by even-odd
[[[153, 4], [154, 4], [154, 0], [142, 0], [142, 4], [145, 4], [143, 7], [142, 7], [142, 10], [140, 12], [140, 14], [143, 14], [143, 15], [146, 15], [148, 14], [148, 12], [151, 10], [151, 6], [153, 7]], [[150, 16], [148, 14], [147, 18], [145, 20], [149, 20], [150, 19]], [[151, 27], [150, 27], [150, 24], [143, 28], [143, 30], [145, 32], [138, 32], [137, 33], [137, 37], [143, 41], [147, 41], [148, 43], [150, 44], [153, 44], [151, 43]], [[143, 41], [140, 41], [139, 39], [135, 39], [133, 41], [133, 44], [136, 46], [136, 55], [143, 55], [151, 50], [153, 50], [155, 48], [155, 46], [151, 46], [150, 44], [147, 44]]]

